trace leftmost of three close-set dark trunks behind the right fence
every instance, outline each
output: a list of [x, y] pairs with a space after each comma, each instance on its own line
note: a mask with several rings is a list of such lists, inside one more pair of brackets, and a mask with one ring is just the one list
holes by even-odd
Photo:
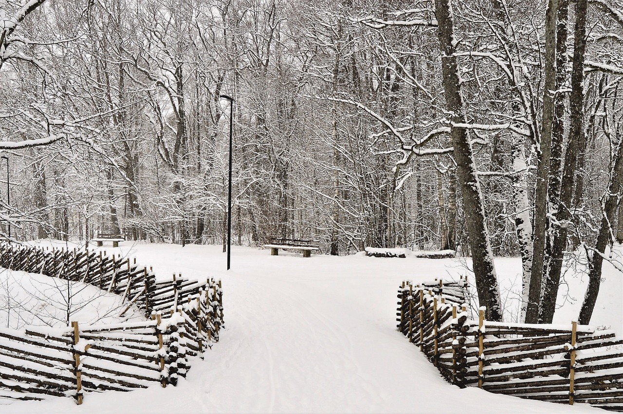
[[553, 91], [556, 88], [556, 12], [558, 0], [549, 0], [545, 12], [545, 84], [543, 85], [543, 123], [536, 167], [535, 213], [533, 229], [533, 258], [530, 291], [526, 308], [526, 323], [538, 321], [541, 281], [545, 265], [547, 233], [549, 164], [551, 159], [552, 123], [554, 118]]

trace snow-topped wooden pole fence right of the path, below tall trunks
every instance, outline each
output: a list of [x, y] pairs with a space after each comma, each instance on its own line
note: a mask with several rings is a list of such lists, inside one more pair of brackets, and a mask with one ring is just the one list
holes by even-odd
[[460, 296], [445, 293], [457, 288], [446, 286], [442, 281], [436, 289], [403, 282], [396, 319], [399, 331], [446, 380], [459, 387], [623, 412], [623, 341], [613, 331], [576, 322], [489, 322], [484, 308], [475, 321]]

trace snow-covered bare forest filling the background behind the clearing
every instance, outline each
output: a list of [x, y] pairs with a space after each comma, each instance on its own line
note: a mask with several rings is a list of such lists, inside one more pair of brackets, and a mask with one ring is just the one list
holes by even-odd
[[2, 236], [225, 246], [231, 167], [238, 245], [456, 250], [492, 321], [493, 256], [526, 322], [579, 263], [586, 324], [623, 242], [618, 7], [0, 0]]

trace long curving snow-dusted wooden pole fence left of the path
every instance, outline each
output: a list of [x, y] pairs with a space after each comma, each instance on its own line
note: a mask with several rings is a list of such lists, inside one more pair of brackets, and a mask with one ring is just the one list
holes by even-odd
[[176, 385], [188, 356], [201, 355], [223, 326], [221, 282], [156, 282], [136, 259], [85, 250], [42, 250], [0, 243], [0, 266], [82, 281], [122, 296], [148, 320], [70, 327], [0, 328], [0, 398], [76, 398], [83, 391]]

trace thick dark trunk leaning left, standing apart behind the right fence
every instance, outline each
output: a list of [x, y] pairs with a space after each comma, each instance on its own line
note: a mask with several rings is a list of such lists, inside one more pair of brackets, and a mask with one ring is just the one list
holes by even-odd
[[[449, 0], [435, 0], [435, 16], [437, 17], [437, 35], [441, 48], [441, 64], [444, 83], [444, 95], [447, 110], [452, 114], [450, 121], [465, 123], [463, 98], [460, 90], [459, 68], [455, 57], [454, 25], [452, 8]], [[450, 131], [454, 158], [457, 162], [457, 178], [461, 186], [465, 222], [472, 250], [473, 272], [480, 306], [487, 306], [489, 321], [502, 320], [502, 304], [500, 286], [498, 285], [493, 254], [489, 241], [485, 210], [480, 192], [480, 183], [475, 171], [475, 164], [467, 129], [452, 126]]]

